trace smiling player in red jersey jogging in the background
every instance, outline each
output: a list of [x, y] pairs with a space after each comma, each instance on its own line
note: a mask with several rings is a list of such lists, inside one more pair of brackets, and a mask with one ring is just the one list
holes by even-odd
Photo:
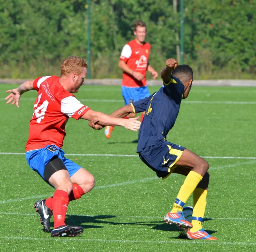
[[[149, 64], [151, 46], [144, 41], [147, 34], [146, 24], [139, 20], [135, 22], [133, 27], [135, 39], [123, 47], [118, 63], [118, 66], [123, 70], [122, 95], [125, 105], [150, 96], [146, 81], [147, 71], [152, 74], [153, 79], [158, 76], [158, 73]], [[141, 121], [144, 114], [145, 112], [141, 114]], [[131, 113], [125, 118], [134, 116], [136, 116], [136, 113]], [[105, 136], [110, 138], [112, 131], [113, 126], [107, 126]]]

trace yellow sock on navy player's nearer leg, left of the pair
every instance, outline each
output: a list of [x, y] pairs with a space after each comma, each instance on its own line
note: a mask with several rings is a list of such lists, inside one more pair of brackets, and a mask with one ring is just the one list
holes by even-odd
[[188, 173], [188, 176], [186, 177], [183, 185], [180, 187], [180, 191], [173, 204], [171, 213], [176, 213], [183, 210], [183, 206], [202, 178], [203, 177], [195, 171], [190, 171], [190, 173]]

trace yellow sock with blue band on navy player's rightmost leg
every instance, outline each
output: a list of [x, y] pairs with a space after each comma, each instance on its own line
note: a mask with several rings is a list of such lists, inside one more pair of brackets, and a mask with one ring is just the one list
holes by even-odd
[[196, 188], [193, 193], [194, 208], [192, 214], [192, 229], [191, 232], [196, 232], [202, 229], [203, 216], [205, 214], [207, 190]]

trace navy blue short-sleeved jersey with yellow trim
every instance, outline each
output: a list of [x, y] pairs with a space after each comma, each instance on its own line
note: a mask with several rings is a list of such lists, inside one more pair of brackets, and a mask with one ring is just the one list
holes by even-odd
[[139, 129], [137, 152], [166, 139], [178, 116], [183, 93], [180, 79], [172, 77], [158, 92], [131, 104], [135, 113], [146, 112]]

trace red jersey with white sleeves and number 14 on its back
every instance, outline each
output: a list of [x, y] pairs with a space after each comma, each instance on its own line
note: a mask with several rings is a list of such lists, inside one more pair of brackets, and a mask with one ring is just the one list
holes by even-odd
[[35, 79], [33, 88], [38, 91], [38, 95], [29, 123], [26, 151], [41, 149], [51, 144], [61, 148], [68, 118], [78, 120], [90, 108], [67, 92], [57, 76], [39, 77]]

